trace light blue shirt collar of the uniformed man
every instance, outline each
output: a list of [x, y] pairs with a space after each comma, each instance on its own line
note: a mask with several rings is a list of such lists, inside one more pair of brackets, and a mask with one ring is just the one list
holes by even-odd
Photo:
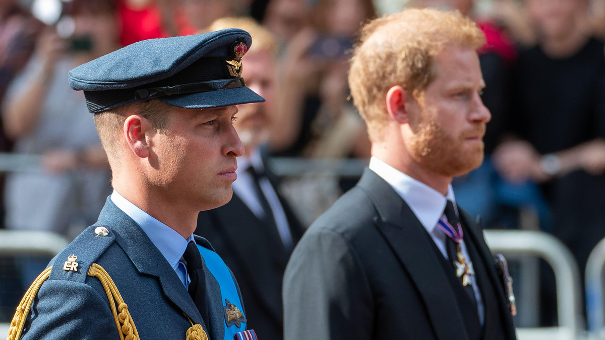
[[111, 193], [111, 200], [143, 229], [143, 232], [164, 255], [172, 268], [176, 268], [178, 261], [187, 248], [187, 244], [191, 241], [195, 242], [193, 234], [187, 239], [183, 239], [183, 236], [178, 234], [174, 229], [145, 213], [145, 211], [125, 199], [115, 189]]

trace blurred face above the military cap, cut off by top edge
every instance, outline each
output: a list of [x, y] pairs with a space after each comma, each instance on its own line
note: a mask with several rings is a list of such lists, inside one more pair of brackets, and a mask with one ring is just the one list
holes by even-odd
[[205, 30], [218, 18], [232, 15], [235, 0], [182, 0], [189, 23]]

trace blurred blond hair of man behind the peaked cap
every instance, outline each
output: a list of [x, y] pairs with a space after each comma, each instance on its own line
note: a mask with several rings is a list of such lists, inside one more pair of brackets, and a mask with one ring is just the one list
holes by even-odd
[[208, 30], [219, 31], [227, 28], [240, 28], [250, 33], [252, 37], [251, 51], [268, 51], [271, 54], [276, 54], [278, 51], [279, 44], [275, 35], [252, 18], [220, 18], [212, 22]]

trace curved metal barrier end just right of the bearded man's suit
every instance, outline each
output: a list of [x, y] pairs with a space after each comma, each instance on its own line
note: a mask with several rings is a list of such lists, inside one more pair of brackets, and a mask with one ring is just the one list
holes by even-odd
[[517, 328], [519, 340], [576, 340], [586, 338], [582, 326], [580, 272], [571, 252], [558, 239], [541, 231], [486, 230], [492, 252], [509, 260], [528, 255], [543, 258], [555, 274], [558, 327]]

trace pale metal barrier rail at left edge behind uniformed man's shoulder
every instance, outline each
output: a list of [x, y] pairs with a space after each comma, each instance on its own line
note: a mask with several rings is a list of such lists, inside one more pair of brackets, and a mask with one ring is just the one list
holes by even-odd
[[[67, 239], [54, 233], [0, 230], [0, 256], [27, 254], [52, 258], [68, 244]], [[0, 338], [8, 334], [9, 327], [10, 323], [0, 323]]]

